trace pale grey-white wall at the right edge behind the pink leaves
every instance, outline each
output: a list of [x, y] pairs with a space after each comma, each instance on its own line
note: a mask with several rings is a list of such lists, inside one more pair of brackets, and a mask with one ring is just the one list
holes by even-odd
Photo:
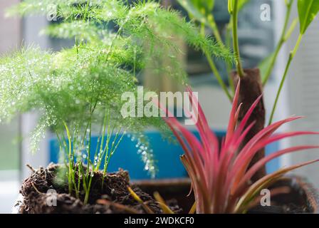
[[[298, 16], [294, 9], [293, 17]], [[287, 105], [291, 115], [305, 115], [303, 120], [291, 124], [291, 130], [319, 131], [319, 18], [305, 33], [300, 48], [292, 63], [287, 80]], [[288, 42], [292, 50], [298, 38], [298, 28]], [[288, 51], [287, 50], [287, 51]], [[291, 145], [319, 145], [319, 136], [306, 136], [290, 140]], [[290, 155], [291, 164], [319, 158], [319, 150]], [[319, 187], [319, 164], [309, 165], [295, 173], [303, 175]]]

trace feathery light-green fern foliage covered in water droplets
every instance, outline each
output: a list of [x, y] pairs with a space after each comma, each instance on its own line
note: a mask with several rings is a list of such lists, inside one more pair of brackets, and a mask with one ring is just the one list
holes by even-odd
[[[155, 1], [128, 5], [120, 0], [25, 0], [8, 14], [54, 14], [58, 23], [43, 32], [75, 39], [75, 46], [58, 52], [31, 46], [0, 58], [0, 120], [37, 110], [40, 118], [33, 148], [48, 128], [63, 133], [68, 125], [74, 138], [87, 135], [88, 123], [101, 128], [107, 111], [113, 128], [139, 135], [140, 143], [150, 150], [140, 132], [150, 125], [167, 132], [162, 120], [120, 114], [122, 93], [137, 93], [136, 77], [147, 63], [154, 63], [152, 71], [186, 82], [187, 74], [177, 58], [182, 51], [173, 42], [176, 38], [211, 56], [233, 59], [229, 50], [202, 37], [179, 12]], [[163, 66], [161, 59], [169, 66]], [[154, 173], [152, 152], [140, 154], [147, 170]]]

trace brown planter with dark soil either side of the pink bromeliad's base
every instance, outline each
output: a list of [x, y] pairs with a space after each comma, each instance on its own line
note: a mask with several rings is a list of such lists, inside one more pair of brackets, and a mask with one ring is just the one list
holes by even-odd
[[[188, 213], [194, 204], [194, 195], [187, 197], [190, 188], [189, 179], [169, 181], [140, 181], [136, 184], [147, 193], [160, 192], [164, 199], [176, 199], [182, 213]], [[318, 213], [318, 191], [304, 178], [298, 176], [282, 177], [269, 187], [270, 190], [287, 188], [285, 194], [271, 196], [271, 206], [257, 206], [249, 209], [249, 214], [296, 214]]]

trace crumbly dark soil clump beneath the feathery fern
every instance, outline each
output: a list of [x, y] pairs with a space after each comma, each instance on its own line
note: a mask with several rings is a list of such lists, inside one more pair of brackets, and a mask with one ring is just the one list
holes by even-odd
[[[145, 207], [137, 202], [130, 195], [127, 186], [142, 199], [143, 202], [154, 213], [162, 213], [162, 209], [155, 200], [139, 187], [130, 185], [130, 178], [127, 172], [109, 173], [103, 181], [103, 173], [95, 172], [92, 181], [90, 199], [88, 204], [83, 204], [84, 192], [81, 192], [80, 199], [75, 195], [68, 194], [66, 182], [58, 182], [58, 165], [49, 165], [47, 168], [41, 167], [33, 170], [31, 176], [24, 180], [20, 193], [23, 195], [20, 212], [26, 214], [35, 213], [147, 213]], [[103, 182], [103, 187], [102, 187]], [[51, 201], [51, 194], [48, 190], [56, 190], [57, 204], [55, 207], [49, 206], [47, 201]], [[175, 212], [179, 207], [174, 204], [171, 207]]]

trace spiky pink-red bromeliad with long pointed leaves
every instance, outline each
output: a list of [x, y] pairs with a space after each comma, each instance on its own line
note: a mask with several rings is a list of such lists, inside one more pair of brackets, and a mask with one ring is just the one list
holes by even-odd
[[[239, 84], [240, 82], [236, 88], [226, 137], [222, 140], [220, 147], [219, 140], [209, 128], [202, 108], [197, 105], [197, 97], [191, 88], [188, 87], [187, 91], [189, 92], [189, 100], [192, 104], [193, 112], [198, 114], [198, 118], [193, 117], [193, 120], [199, 130], [200, 140], [184, 128], [176, 118], [172, 117], [173, 115], [169, 113], [169, 110], [160, 105], [160, 108], [168, 116], [164, 118], [165, 122], [172, 129], [184, 149], [185, 154], [182, 155], [181, 160], [192, 182], [197, 213], [246, 212], [253, 202], [256, 202], [262, 189], [269, 187], [278, 178], [291, 170], [318, 162], [318, 160], [313, 160], [285, 167], [252, 183], [251, 177], [270, 160], [287, 153], [318, 148], [318, 146], [304, 145], [279, 150], [263, 157], [249, 167], [251, 159], [258, 150], [283, 138], [318, 133], [298, 131], [273, 135], [281, 125], [301, 118], [291, 117], [269, 125], [251, 138], [246, 145], [241, 145], [241, 142], [254, 124], [248, 124], [248, 121], [253, 109], [256, 108], [256, 105], [261, 100], [261, 96], [251, 105], [244, 119], [239, 123], [238, 116], [242, 105], [238, 104]], [[185, 109], [185, 111], [189, 113], [189, 110]]]

